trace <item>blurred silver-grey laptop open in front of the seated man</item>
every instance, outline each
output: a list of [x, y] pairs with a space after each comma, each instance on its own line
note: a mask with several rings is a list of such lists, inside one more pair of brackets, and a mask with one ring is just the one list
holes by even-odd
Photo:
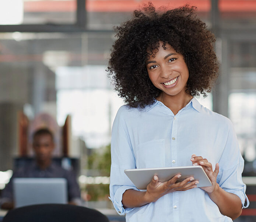
[[65, 178], [14, 178], [15, 207], [33, 204], [66, 204]]

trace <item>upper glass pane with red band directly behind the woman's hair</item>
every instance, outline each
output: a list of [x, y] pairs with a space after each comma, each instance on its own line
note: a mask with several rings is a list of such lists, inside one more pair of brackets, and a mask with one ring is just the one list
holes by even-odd
[[[112, 29], [113, 25], [118, 25], [131, 17], [134, 10], [148, 4], [147, 0], [85, 0], [87, 9], [87, 19], [89, 29]], [[165, 7], [168, 9], [184, 6], [197, 7], [197, 14], [210, 27], [210, 0], [156, 0], [152, 1], [155, 7]]]

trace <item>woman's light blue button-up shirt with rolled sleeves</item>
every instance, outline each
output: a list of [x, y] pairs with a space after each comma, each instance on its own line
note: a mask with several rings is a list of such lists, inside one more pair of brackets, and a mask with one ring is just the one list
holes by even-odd
[[142, 207], [123, 208], [123, 193], [138, 190], [125, 169], [191, 166], [192, 154], [206, 158], [213, 169], [219, 163], [217, 183], [248, 207], [241, 176], [243, 158], [228, 118], [204, 108], [195, 98], [176, 115], [159, 101], [142, 110], [122, 106], [111, 140], [110, 197], [118, 213], [126, 214], [127, 222], [232, 221], [198, 187], [166, 194]]

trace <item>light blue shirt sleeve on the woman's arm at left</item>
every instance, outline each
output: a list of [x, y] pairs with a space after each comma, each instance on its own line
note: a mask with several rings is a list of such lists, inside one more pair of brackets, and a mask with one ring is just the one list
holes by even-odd
[[122, 106], [119, 109], [112, 127], [109, 185], [110, 200], [120, 215], [124, 215], [134, 209], [123, 207], [123, 193], [129, 189], [138, 190], [124, 172], [125, 169], [136, 168], [136, 164], [129, 132], [122, 115], [123, 109], [126, 109], [126, 107]]

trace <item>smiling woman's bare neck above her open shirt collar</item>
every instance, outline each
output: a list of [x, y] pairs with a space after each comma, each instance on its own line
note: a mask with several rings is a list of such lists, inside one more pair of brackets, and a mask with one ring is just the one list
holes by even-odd
[[162, 92], [157, 97], [157, 100], [164, 103], [164, 105], [171, 109], [173, 114], [176, 115], [179, 110], [185, 107], [192, 98], [193, 96], [187, 94], [186, 92], [175, 96], [171, 96]]

